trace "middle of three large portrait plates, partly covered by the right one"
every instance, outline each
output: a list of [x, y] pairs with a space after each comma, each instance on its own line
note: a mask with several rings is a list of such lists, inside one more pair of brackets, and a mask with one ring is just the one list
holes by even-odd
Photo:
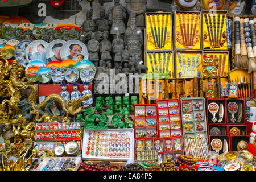
[[64, 43], [65, 43], [65, 40], [53, 40], [52, 42], [49, 43], [49, 45], [46, 48], [46, 58], [49, 62], [61, 60], [60, 49]]

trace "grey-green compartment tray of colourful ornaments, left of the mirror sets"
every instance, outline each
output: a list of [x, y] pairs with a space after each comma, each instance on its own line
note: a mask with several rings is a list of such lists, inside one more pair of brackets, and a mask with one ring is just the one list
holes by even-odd
[[181, 98], [183, 138], [207, 138], [204, 97]]

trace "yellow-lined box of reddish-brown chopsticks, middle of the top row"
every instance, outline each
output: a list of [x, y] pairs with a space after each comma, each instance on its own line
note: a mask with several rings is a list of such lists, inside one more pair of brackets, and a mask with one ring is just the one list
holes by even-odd
[[[178, 15], [178, 13], [180, 13], [180, 16]], [[183, 13], [184, 16], [182, 15]], [[192, 13], [194, 14], [194, 16], [193, 26], [191, 27], [190, 25], [192, 25]], [[189, 14], [189, 22], [187, 21], [187, 14]], [[197, 22], [196, 14], [198, 14]], [[185, 23], [179, 23], [180, 21], [184, 22], [184, 20]], [[201, 32], [202, 27], [200, 11], [174, 11], [174, 49], [202, 49]], [[195, 45], [193, 46], [193, 44]]]

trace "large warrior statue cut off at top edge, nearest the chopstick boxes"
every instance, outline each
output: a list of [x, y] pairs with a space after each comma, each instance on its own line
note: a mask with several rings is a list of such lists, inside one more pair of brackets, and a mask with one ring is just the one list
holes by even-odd
[[[145, 28], [145, 19], [144, 13], [146, 13], [146, 0], [126, 0], [126, 8], [129, 15], [131, 13], [136, 14], [136, 26], [144, 30]], [[130, 16], [127, 22], [127, 27], [130, 26]]]

